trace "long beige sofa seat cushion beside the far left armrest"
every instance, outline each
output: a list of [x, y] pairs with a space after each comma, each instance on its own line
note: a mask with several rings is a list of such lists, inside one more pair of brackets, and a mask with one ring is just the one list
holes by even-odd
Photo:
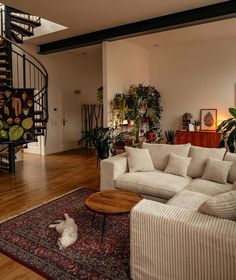
[[152, 172], [125, 173], [115, 180], [115, 187], [164, 199], [170, 199], [192, 181], [189, 177]]

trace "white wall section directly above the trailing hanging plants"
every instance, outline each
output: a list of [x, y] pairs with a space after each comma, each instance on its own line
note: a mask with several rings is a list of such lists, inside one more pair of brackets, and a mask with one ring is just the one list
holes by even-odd
[[148, 50], [127, 40], [103, 43], [104, 125], [109, 124], [114, 95], [139, 83], [149, 84]]

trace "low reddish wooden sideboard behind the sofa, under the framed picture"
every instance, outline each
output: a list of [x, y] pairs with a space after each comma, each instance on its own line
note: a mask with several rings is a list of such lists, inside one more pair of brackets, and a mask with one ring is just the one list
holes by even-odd
[[191, 143], [194, 146], [218, 148], [221, 134], [215, 131], [176, 131], [176, 144]]

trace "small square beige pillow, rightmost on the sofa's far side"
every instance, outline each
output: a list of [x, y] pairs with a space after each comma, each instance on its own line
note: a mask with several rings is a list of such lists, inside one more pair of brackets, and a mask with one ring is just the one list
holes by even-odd
[[202, 179], [226, 184], [232, 162], [208, 158]]

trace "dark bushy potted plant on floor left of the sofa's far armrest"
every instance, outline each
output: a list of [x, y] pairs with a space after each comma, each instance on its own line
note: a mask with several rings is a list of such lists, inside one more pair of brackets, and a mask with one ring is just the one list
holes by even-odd
[[79, 144], [88, 147], [88, 143], [93, 145], [97, 151], [97, 157], [105, 159], [109, 157], [109, 152], [114, 154], [113, 142], [115, 128], [95, 127], [83, 132]]

